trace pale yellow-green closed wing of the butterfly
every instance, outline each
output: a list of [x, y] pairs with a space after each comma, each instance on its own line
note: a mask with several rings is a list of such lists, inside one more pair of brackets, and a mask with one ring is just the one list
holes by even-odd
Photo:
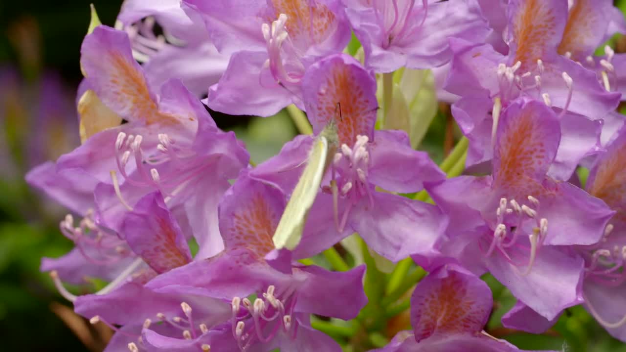
[[309, 162], [304, 167], [274, 232], [273, 241], [277, 249], [292, 250], [300, 243], [304, 223], [324, 177], [327, 157], [328, 140], [324, 136], [319, 136], [313, 143]]

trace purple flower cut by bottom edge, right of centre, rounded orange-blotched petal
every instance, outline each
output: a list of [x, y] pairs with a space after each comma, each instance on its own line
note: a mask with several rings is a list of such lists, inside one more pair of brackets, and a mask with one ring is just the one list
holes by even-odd
[[482, 331], [492, 305], [485, 281], [454, 264], [438, 267], [411, 296], [413, 333], [403, 331], [374, 351], [520, 351]]

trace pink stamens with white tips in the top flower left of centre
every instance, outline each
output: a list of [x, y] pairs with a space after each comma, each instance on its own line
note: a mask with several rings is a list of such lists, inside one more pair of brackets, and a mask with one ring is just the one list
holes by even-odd
[[287, 15], [282, 13], [278, 19], [270, 24], [261, 26], [263, 38], [267, 45], [269, 58], [265, 61], [265, 67], [269, 68], [274, 80], [280, 85], [297, 85], [304, 75], [304, 65], [299, 60], [299, 54], [291, 43], [287, 33]]

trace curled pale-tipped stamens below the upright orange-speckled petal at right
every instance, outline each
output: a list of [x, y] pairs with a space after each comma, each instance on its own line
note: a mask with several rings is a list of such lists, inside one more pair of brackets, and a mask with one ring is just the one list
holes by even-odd
[[[535, 207], [535, 209], [528, 207], [528, 205], [520, 205], [515, 199], [508, 201], [506, 198], [500, 199], [500, 205], [496, 210], [496, 225], [493, 235], [489, 239], [489, 247], [483, 248], [485, 256], [489, 257], [495, 252], [500, 253], [506, 261], [517, 268], [525, 266], [526, 269], [521, 271], [520, 274], [526, 276], [530, 273], [535, 263], [537, 252], [540, 250], [543, 242], [545, 241], [546, 234], [548, 233], [548, 220], [539, 218], [537, 216], [537, 209], [539, 207], [539, 201], [535, 197], [528, 196], [528, 201]], [[510, 207], [509, 207], [510, 205]], [[508, 226], [505, 224], [506, 215], [515, 215], [515, 225]], [[530, 242], [530, 248], [518, 241], [521, 236], [521, 227], [523, 222], [528, 219], [534, 219], [536, 226], [528, 234], [528, 241]], [[528, 257], [528, 262], [516, 261], [515, 257], [518, 253], [530, 252], [528, 256], [526, 254], [521, 257]]]

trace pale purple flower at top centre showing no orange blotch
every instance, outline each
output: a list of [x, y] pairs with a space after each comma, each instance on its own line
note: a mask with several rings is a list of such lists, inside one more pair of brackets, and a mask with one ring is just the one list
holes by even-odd
[[344, 0], [361, 40], [365, 64], [376, 72], [441, 66], [451, 58], [449, 37], [482, 43], [490, 33], [477, 1]]

